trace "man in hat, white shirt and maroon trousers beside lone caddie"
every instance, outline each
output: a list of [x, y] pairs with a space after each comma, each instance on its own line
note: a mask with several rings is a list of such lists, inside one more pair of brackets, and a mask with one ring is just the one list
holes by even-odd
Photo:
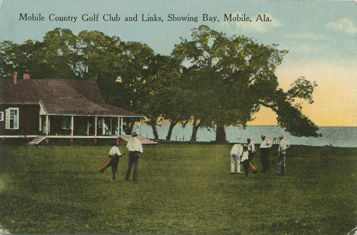
[[131, 167], [134, 164], [134, 170], [133, 170], [133, 182], [137, 183], [137, 173], [138, 173], [138, 168], [139, 168], [139, 158], [140, 154], [143, 153], [142, 145], [139, 139], [137, 139], [137, 133], [133, 132], [132, 133], [132, 139], [128, 141], [126, 144], [126, 148], [129, 150], [129, 159], [128, 159], [128, 166], [127, 166], [127, 171], [126, 171], [126, 177], [125, 180], [129, 180], [130, 176], [130, 171]]

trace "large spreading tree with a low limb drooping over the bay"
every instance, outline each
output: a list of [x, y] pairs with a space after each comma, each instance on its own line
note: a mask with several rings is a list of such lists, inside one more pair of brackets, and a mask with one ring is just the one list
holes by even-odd
[[279, 88], [275, 69], [288, 51], [245, 36], [228, 37], [206, 25], [192, 29], [191, 37], [175, 45], [172, 55], [187, 67], [192, 141], [200, 127], [214, 125], [216, 141], [225, 141], [225, 126], [245, 126], [261, 106], [271, 108], [291, 134], [318, 136], [317, 126], [301, 112], [303, 100], [313, 102], [316, 83], [301, 77], [287, 92]]

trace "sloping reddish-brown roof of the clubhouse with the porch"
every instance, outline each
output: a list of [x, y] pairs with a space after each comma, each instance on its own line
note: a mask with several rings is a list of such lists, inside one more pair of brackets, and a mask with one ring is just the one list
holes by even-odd
[[48, 114], [143, 116], [106, 104], [95, 81], [70, 79], [0, 78], [0, 103], [38, 104]]

